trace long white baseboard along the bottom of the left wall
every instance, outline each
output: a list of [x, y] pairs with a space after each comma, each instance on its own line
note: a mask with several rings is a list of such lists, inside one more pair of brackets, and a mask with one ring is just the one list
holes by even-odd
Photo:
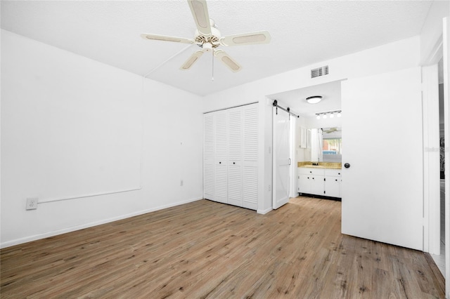
[[195, 198], [195, 199], [188, 199], [186, 201], [178, 201], [178, 202], [173, 203], [173, 204], [167, 204], [167, 205], [164, 205], [164, 206], [157, 206], [155, 208], [149, 208], [149, 209], [143, 210], [143, 211], [137, 211], [137, 212], [134, 212], [134, 213], [120, 215], [120, 216], [113, 217], [113, 218], [103, 219], [103, 220], [99, 220], [99, 221], [95, 221], [95, 222], [89, 222], [89, 223], [86, 223], [86, 224], [83, 224], [83, 225], [76, 225], [74, 227], [67, 227], [67, 228], [64, 228], [62, 230], [56, 230], [56, 231], [53, 231], [53, 232], [46, 232], [44, 234], [35, 234], [34, 236], [30, 236], [30, 237], [14, 239], [12, 241], [2, 242], [0, 244], [0, 248], [6, 248], [6, 247], [18, 245], [18, 244], [23, 244], [23, 243], [27, 243], [27, 242], [31, 242], [31, 241], [36, 241], [36, 240], [39, 240], [39, 239], [45, 239], [45, 238], [48, 238], [48, 237], [57, 236], [58, 234], [65, 234], [65, 233], [68, 233], [68, 232], [75, 232], [76, 230], [83, 230], [83, 229], [88, 228], [88, 227], [94, 227], [94, 226], [97, 226], [97, 225], [103, 225], [105, 223], [114, 222], [114, 221], [117, 221], [117, 220], [122, 220], [122, 219], [130, 218], [130, 217], [134, 217], [134, 216], [137, 216], [137, 215], [143, 215], [143, 214], [146, 214], [146, 213], [159, 211], [159, 210], [162, 210], [164, 208], [171, 208], [172, 206], [179, 206], [181, 204], [188, 204], [190, 202], [198, 201], [200, 199], [203, 199], [203, 197]]

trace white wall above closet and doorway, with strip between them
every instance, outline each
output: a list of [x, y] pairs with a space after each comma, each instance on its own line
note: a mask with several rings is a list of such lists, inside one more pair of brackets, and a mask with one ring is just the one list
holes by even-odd
[[[399, 69], [418, 66], [420, 62], [420, 39], [414, 36], [410, 39], [396, 41], [351, 55], [345, 55], [333, 60], [327, 60], [294, 69], [248, 84], [243, 84], [226, 91], [207, 95], [204, 100], [205, 112], [222, 109], [248, 102], [259, 102], [259, 161], [264, 161], [259, 169], [259, 204], [258, 212], [267, 213], [271, 209], [271, 100], [266, 95], [291, 91], [298, 88], [331, 81], [366, 77], [371, 74], [393, 72]], [[310, 69], [328, 65], [329, 74], [324, 77], [310, 78]], [[244, 71], [243, 71], [244, 72]], [[345, 112], [342, 112], [345, 114]], [[345, 129], [345, 128], [343, 128]]]

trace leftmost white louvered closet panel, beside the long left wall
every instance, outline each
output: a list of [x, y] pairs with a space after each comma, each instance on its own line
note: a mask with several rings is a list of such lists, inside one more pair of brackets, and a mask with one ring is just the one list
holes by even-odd
[[203, 198], [214, 200], [214, 114], [203, 116]]

